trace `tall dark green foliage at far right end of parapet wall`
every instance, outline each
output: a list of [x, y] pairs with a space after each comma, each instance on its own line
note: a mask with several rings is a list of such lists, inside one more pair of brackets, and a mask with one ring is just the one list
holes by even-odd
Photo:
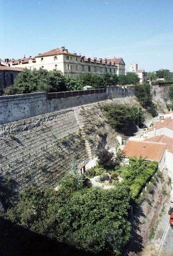
[[139, 103], [149, 112], [153, 117], [157, 115], [156, 105], [152, 102], [152, 95], [150, 92], [149, 83], [143, 83], [135, 86], [135, 96]]

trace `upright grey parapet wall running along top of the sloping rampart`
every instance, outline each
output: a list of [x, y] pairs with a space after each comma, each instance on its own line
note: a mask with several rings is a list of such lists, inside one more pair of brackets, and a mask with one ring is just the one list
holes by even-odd
[[0, 96], [0, 124], [105, 99], [132, 96], [134, 86], [110, 86], [104, 92], [92, 92], [53, 99], [48, 99], [49, 93], [46, 92]]

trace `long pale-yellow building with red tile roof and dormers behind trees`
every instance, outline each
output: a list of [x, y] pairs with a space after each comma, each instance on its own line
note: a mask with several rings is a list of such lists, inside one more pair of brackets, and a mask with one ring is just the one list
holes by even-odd
[[76, 75], [82, 73], [101, 74], [111, 72], [117, 75], [125, 74], [125, 63], [122, 58], [90, 58], [72, 53], [65, 49], [54, 48], [49, 51], [39, 53], [35, 57], [23, 57], [8, 60], [10, 66], [33, 68], [44, 68], [47, 70], [57, 69], [64, 75]]

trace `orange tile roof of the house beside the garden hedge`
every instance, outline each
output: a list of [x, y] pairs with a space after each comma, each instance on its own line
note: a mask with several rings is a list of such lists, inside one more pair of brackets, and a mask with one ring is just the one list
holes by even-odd
[[123, 155], [128, 158], [137, 156], [145, 158], [146, 160], [159, 162], [165, 148], [165, 143], [128, 140], [123, 149]]

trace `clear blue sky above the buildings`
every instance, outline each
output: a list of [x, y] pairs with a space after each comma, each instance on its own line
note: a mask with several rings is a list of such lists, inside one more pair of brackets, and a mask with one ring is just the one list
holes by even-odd
[[173, 0], [0, 0], [0, 58], [65, 47], [173, 71]]

